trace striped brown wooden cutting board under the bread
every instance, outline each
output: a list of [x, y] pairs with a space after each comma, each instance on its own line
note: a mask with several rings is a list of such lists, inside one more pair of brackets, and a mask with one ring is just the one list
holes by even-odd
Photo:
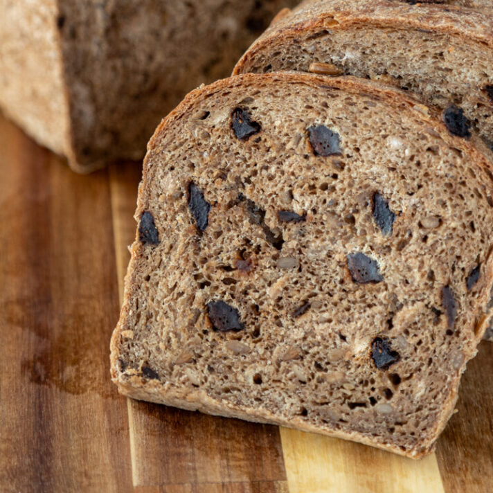
[[0, 117], [0, 492], [493, 491], [493, 343], [419, 462], [118, 395], [109, 338], [140, 177], [74, 174]]

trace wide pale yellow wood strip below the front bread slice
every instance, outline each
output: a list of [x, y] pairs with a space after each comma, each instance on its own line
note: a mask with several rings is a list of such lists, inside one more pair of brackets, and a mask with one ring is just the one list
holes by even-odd
[[280, 429], [289, 493], [442, 493], [435, 454], [420, 461]]

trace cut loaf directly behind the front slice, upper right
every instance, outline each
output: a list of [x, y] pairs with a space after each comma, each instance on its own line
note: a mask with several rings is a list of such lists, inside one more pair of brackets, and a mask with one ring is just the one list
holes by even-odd
[[235, 74], [355, 75], [417, 93], [493, 145], [493, 2], [307, 0], [253, 43]]

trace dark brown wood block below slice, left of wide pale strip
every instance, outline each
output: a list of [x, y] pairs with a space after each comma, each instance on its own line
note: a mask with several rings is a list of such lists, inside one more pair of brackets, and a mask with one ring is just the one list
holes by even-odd
[[133, 402], [136, 485], [285, 479], [278, 429]]

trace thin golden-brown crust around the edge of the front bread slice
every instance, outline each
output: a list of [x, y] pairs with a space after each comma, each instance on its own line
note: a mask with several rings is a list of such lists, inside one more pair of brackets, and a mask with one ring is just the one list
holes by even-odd
[[[274, 86], [279, 83], [306, 84], [314, 89], [330, 86], [343, 91], [363, 93], [365, 95], [372, 96], [373, 98], [385, 100], [391, 105], [405, 105], [409, 111], [415, 112], [416, 116], [420, 118], [420, 120], [426, 121], [431, 128], [438, 132], [447, 144], [466, 152], [472, 159], [474, 159], [474, 161], [478, 163], [479, 167], [483, 167], [487, 170], [491, 169], [490, 163], [487, 161], [485, 156], [483, 156], [483, 154], [478, 152], [476, 149], [474, 145], [475, 138], [472, 138], [471, 141], [465, 141], [463, 138], [452, 136], [449, 132], [447, 132], [445, 125], [436, 118], [438, 116], [438, 111], [436, 109], [425, 107], [420, 102], [411, 98], [402, 91], [395, 91], [391, 88], [383, 87], [382, 84], [377, 84], [376, 82], [364, 81], [350, 77], [331, 78], [328, 80], [320, 75], [307, 75], [303, 73], [272, 73], [265, 75], [246, 74], [235, 78], [219, 80], [206, 87], [199, 87], [195, 91], [188, 94], [183, 102], [181, 102], [181, 104], [161, 122], [159, 127], [156, 129], [156, 132], [154, 132], [154, 135], [150, 139], [147, 147], [147, 155], [144, 161], [143, 181], [139, 188], [138, 194], [138, 205], [135, 215], [136, 220], [138, 220], [143, 210], [145, 210], [150, 199], [148, 196], [148, 190], [150, 186], [150, 175], [152, 174], [152, 156], [154, 155], [154, 152], [159, 152], [163, 146], [163, 141], [165, 142], [167, 140], [166, 136], [170, 125], [177, 122], [183, 114], [190, 111], [197, 104], [197, 102], [208, 98], [214, 93], [223, 91], [224, 89], [231, 90], [234, 87], [260, 88]], [[438, 434], [445, 427], [447, 420], [449, 420], [451, 414], [454, 412], [454, 406], [457, 400], [457, 393], [455, 389], [458, 386], [460, 375], [465, 370], [465, 362], [467, 359], [473, 357], [474, 354], [476, 354], [475, 352], [474, 354], [465, 355], [464, 363], [458, 370], [457, 375], [453, 377], [451, 388], [454, 390], [450, 393], [449, 398], [440, 413], [440, 419], [434, 424], [433, 433], [431, 433], [433, 439], [429, 440], [429, 442], [421, 444], [422, 447], [419, 449], [407, 451], [402, 450], [397, 445], [384, 443], [377, 440], [370, 440], [361, 433], [354, 431], [321, 431], [317, 427], [303, 422], [300, 418], [294, 418], [287, 421], [276, 418], [274, 414], [267, 411], [252, 409], [246, 406], [235, 406], [226, 401], [219, 402], [199, 389], [190, 391], [188, 389], [179, 388], [170, 382], [165, 382], [164, 384], [158, 380], [149, 380], [146, 382], [138, 375], [132, 375], [130, 377], [129, 375], [123, 375], [120, 371], [118, 362], [120, 357], [120, 336], [129, 317], [131, 301], [135, 296], [137, 296], [136, 273], [138, 270], [138, 265], [143, 259], [143, 246], [141, 242], [138, 241], [138, 234], [136, 235], [136, 241], [132, 245], [130, 251], [131, 260], [129, 263], [127, 276], [125, 277], [125, 296], [123, 307], [120, 314], [120, 320], [113, 336], [111, 337], [111, 378], [114, 383], [118, 385], [120, 393], [135, 399], [150, 400], [152, 402], [177, 406], [191, 411], [201, 411], [210, 414], [224, 415], [227, 417], [241, 418], [244, 420], [279, 424], [281, 426], [293, 427], [303, 431], [314, 431], [318, 433], [322, 432], [328, 436], [343, 438], [346, 440], [354, 440], [366, 445], [372, 445], [373, 447], [392, 451], [396, 454], [409, 456], [411, 458], [421, 458], [433, 450], [434, 442], [438, 437]], [[479, 296], [479, 305], [483, 308], [487, 305], [490, 289], [493, 284], [493, 256], [491, 254], [487, 258], [486, 265], [484, 289]], [[481, 319], [481, 323], [479, 323], [476, 327], [476, 343], [481, 340], [483, 332], [487, 326], [487, 321], [489, 321], [491, 314], [478, 313], [477, 316], [478, 319]]]

